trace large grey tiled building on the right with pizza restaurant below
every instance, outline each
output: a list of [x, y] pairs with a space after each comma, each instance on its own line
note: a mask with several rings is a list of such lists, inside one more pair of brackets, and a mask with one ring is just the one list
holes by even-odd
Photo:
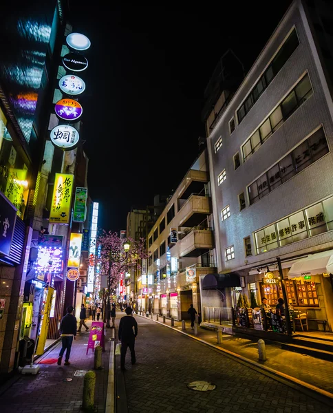
[[[332, 328], [330, 6], [292, 3], [213, 128], [207, 118], [207, 142], [216, 283], [236, 272], [243, 293], [275, 306], [279, 257], [289, 304]], [[233, 290], [226, 288], [228, 306], [236, 304]]]

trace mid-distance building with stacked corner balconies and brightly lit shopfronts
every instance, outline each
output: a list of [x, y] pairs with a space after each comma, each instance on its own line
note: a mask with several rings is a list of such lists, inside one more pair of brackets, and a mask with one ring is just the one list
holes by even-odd
[[199, 279], [214, 272], [206, 149], [193, 162], [148, 235], [147, 273], [138, 279], [138, 309], [187, 319], [201, 308]]

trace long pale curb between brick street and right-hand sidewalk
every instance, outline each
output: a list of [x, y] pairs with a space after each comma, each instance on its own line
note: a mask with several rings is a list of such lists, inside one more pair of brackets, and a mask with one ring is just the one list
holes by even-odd
[[215, 344], [208, 343], [208, 341], [200, 339], [199, 337], [189, 335], [187, 332], [178, 330], [178, 328], [168, 326], [167, 324], [161, 323], [160, 321], [156, 321], [154, 319], [151, 319], [149, 317], [144, 317], [142, 315], [138, 315], [138, 317], [142, 317], [144, 319], [150, 319], [156, 324], [160, 324], [161, 326], [166, 326], [168, 328], [171, 328], [171, 330], [180, 332], [181, 334], [186, 335], [187, 337], [190, 337], [191, 339], [194, 339], [196, 341], [199, 341], [200, 343], [203, 343], [206, 346], [214, 348], [215, 350], [219, 352], [224, 352], [224, 354], [226, 354], [226, 356], [229, 357], [230, 359], [236, 359], [236, 361], [238, 361], [239, 363], [243, 363], [246, 366], [253, 368], [254, 370], [257, 370], [258, 372], [261, 372], [262, 374], [266, 374], [268, 377], [272, 379], [275, 379], [296, 390], [299, 390], [308, 396], [310, 395], [314, 399], [321, 401], [321, 403], [325, 403], [326, 405], [333, 407], [333, 393], [327, 392], [326, 390], [318, 388], [310, 383], [306, 383], [305, 381], [299, 380], [296, 377], [292, 377], [292, 376], [289, 376], [288, 374], [279, 372], [278, 370], [275, 370], [268, 366], [263, 366], [262, 364], [257, 363], [256, 361], [246, 359], [246, 357], [236, 354], [230, 350], [226, 350], [225, 348], [222, 348], [220, 346], [216, 346]]

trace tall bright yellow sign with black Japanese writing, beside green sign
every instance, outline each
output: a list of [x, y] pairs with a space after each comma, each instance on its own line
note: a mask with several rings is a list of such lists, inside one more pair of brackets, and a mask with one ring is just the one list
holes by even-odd
[[74, 175], [56, 173], [54, 180], [50, 224], [68, 224]]

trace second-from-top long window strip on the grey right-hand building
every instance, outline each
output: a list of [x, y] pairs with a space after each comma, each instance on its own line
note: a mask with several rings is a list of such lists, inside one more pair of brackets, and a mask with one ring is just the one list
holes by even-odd
[[292, 89], [292, 91], [284, 98], [277, 108], [264, 120], [255, 133], [246, 140], [241, 147], [243, 153], [243, 161], [255, 153], [266, 142], [272, 134], [279, 129], [289, 116], [291, 116], [296, 109], [298, 109], [305, 100], [307, 100], [313, 93], [310, 78], [305, 74], [301, 81]]

